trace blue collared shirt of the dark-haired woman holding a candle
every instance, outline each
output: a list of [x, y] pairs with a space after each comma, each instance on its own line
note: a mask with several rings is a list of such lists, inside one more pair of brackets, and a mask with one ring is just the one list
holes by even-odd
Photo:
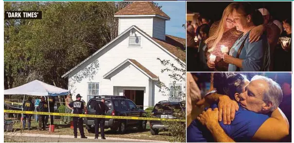
[[[250, 34], [250, 31], [239, 37], [235, 42], [230, 55], [237, 57], [238, 50], [244, 40], [244, 47], [242, 48], [239, 59], [242, 59], [241, 72], [264, 72], [269, 71], [270, 66], [270, 45], [265, 34], [261, 35], [257, 42], [250, 43], [249, 38], [245, 39]], [[236, 72], [237, 66], [229, 64], [229, 72]]]

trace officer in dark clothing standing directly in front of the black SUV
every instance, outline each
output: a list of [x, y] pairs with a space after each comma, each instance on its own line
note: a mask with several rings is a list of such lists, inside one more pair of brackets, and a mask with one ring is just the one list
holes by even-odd
[[[102, 99], [101, 102], [98, 101], [95, 104], [95, 114], [96, 115], [105, 115], [107, 111], [107, 107], [105, 105], [105, 100]], [[95, 118], [95, 139], [98, 139], [99, 137], [99, 125], [100, 125], [100, 130], [101, 130], [101, 139], [105, 140], [105, 135], [104, 135], [104, 123], [105, 123], [105, 118]]]

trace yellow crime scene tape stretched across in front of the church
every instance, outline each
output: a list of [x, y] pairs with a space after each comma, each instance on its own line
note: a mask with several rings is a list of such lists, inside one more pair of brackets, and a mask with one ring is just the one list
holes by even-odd
[[55, 116], [73, 116], [73, 117], [90, 117], [90, 118], [108, 118], [108, 119], [128, 119], [128, 120], [152, 120], [152, 121], [186, 122], [186, 120], [184, 120], [184, 119], [147, 118], [147, 117], [126, 117], [126, 116], [70, 114], [70, 113], [49, 113], [49, 112], [18, 111], [18, 110], [4, 110], [4, 113], [38, 114], [38, 115], [55, 115]]

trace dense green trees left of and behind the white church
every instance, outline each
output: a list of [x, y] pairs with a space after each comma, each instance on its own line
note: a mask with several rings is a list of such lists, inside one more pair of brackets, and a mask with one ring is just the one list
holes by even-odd
[[67, 88], [61, 75], [117, 36], [115, 2], [5, 2], [4, 10], [43, 12], [4, 20], [4, 89], [35, 79]]

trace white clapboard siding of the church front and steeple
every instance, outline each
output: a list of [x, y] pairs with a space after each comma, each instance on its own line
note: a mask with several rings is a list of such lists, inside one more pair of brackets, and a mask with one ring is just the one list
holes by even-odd
[[[124, 18], [121, 18], [121, 20], [122, 19]], [[144, 20], [141, 19], [140, 22], [144, 23], [143, 25], [146, 25], [145, 29], [147, 29], [147, 31], [147, 27], [153, 27], [152, 20], [151, 24], [148, 24], [148, 18]], [[140, 22], [138, 23], [139, 25]], [[128, 22], [124, 23], [120, 21], [120, 28], [122, 28], [122, 23], [126, 26]], [[131, 26], [136, 24], [132, 23], [129, 25]], [[160, 24], [155, 25], [158, 25], [157, 27], [160, 29]], [[142, 28], [142, 26], [136, 26]], [[161, 29], [163, 29], [163, 27], [161, 27]], [[149, 34], [151, 33], [150, 36], [152, 36], [152, 31], [153, 30], [151, 28], [151, 31], [149, 31]], [[157, 38], [159, 38], [160, 34], [157, 35]], [[139, 45], [140, 48], [137, 48]], [[130, 46], [133, 48], [130, 48]], [[114, 69], [116, 66], [120, 65], [126, 59], [134, 59], [147, 68], [150, 72], [158, 76], [159, 80], [168, 86], [172, 83], [173, 80], [168, 76], [170, 73], [161, 72], [162, 69], [165, 69], [165, 66], [163, 66], [157, 58], [169, 60], [174, 64], [174, 66], [180, 67], [180, 65], [175, 61], [174, 57], [166, 53], [163, 49], [159, 48], [157, 45], [155, 45], [155, 43], [151, 42], [147, 37], [143, 36], [134, 28], [130, 29], [123, 36], [120, 36], [105, 49], [100, 51], [98, 54], [95, 54], [91, 59], [71, 72], [68, 77], [68, 89], [70, 89], [74, 95], [77, 93], [81, 94], [83, 96], [82, 99], [86, 102], [88, 101], [87, 92], [89, 82], [99, 83], [99, 95], [120, 95], [123, 90], [127, 89], [144, 90], [144, 106], [154, 106], [159, 101], [168, 100], [169, 98], [168, 96], [164, 96], [159, 91], [160, 87], [158, 85], [158, 81], [152, 81], [136, 67], [132, 65], [121, 67], [118, 72], [112, 73], [110, 79], [104, 79], [103, 76]], [[98, 63], [98, 67], [93, 67], [92, 63], [94, 62]], [[89, 72], [91, 73], [91, 76], [85, 76], [85, 73], [89, 73], [85, 69], [90, 69]], [[185, 81], [179, 82], [177, 84], [184, 86], [184, 83]], [[75, 96], [73, 99], [75, 100]]]

